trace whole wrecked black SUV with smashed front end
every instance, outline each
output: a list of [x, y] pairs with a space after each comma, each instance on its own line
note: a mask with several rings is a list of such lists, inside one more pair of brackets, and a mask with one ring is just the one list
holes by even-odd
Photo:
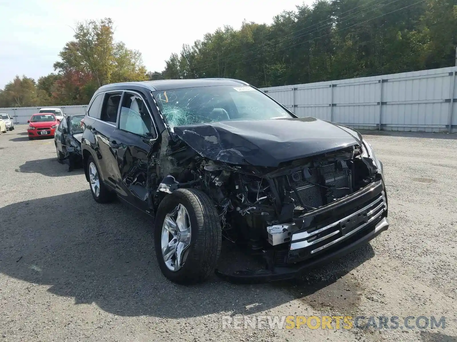
[[271, 281], [388, 228], [371, 145], [349, 127], [299, 118], [247, 83], [109, 84], [88, 108], [81, 150], [92, 195], [117, 195], [155, 217], [156, 256], [172, 281], [206, 280], [223, 238], [257, 263], [216, 274]]

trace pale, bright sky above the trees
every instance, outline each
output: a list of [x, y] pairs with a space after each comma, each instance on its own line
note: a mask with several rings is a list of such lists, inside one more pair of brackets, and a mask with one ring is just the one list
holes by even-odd
[[[313, 0], [304, 0], [310, 5]], [[0, 88], [16, 75], [37, 80], [53, 72], [53, 63], [77, 21], [111, 17], [115, 39], [143, 54], [149, 71], [162, 71], [165, 60], [224, 25], [244, 19], [271, 23], [303, 0], [0, 0]]]

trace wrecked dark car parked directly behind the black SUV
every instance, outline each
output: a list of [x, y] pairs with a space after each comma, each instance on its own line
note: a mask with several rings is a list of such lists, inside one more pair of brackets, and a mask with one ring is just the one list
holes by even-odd
[[83, 129], [81, 119], [83, 118], [83, 114], [66, 115], [54, 133], [57, 160], [60, 162], [68, 161], [69, 171], [72, 171], [82, 161], [81, 138]]

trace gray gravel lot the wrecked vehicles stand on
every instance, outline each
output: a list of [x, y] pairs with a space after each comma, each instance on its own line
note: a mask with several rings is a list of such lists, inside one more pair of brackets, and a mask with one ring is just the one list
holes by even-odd
[[[302, 280], [170, 283], [151, 221], [93, 201], [27, 126], [0, 135], [0, 342], [457, 341], [457, 137], [367, 134], [391, 226]], [[445, 329], [222, 329], [222, 316], [446, 316]], [[413, 321], [414, 322], [414, 321]]]

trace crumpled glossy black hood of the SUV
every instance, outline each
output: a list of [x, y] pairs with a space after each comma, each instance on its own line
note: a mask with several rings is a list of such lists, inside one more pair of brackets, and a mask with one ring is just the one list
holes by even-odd
[[315, 118], [221, 121], [175, 126], [174, 132], [211, 160], [254, 166], [275, 167], [362, 144], [356, 131]]

